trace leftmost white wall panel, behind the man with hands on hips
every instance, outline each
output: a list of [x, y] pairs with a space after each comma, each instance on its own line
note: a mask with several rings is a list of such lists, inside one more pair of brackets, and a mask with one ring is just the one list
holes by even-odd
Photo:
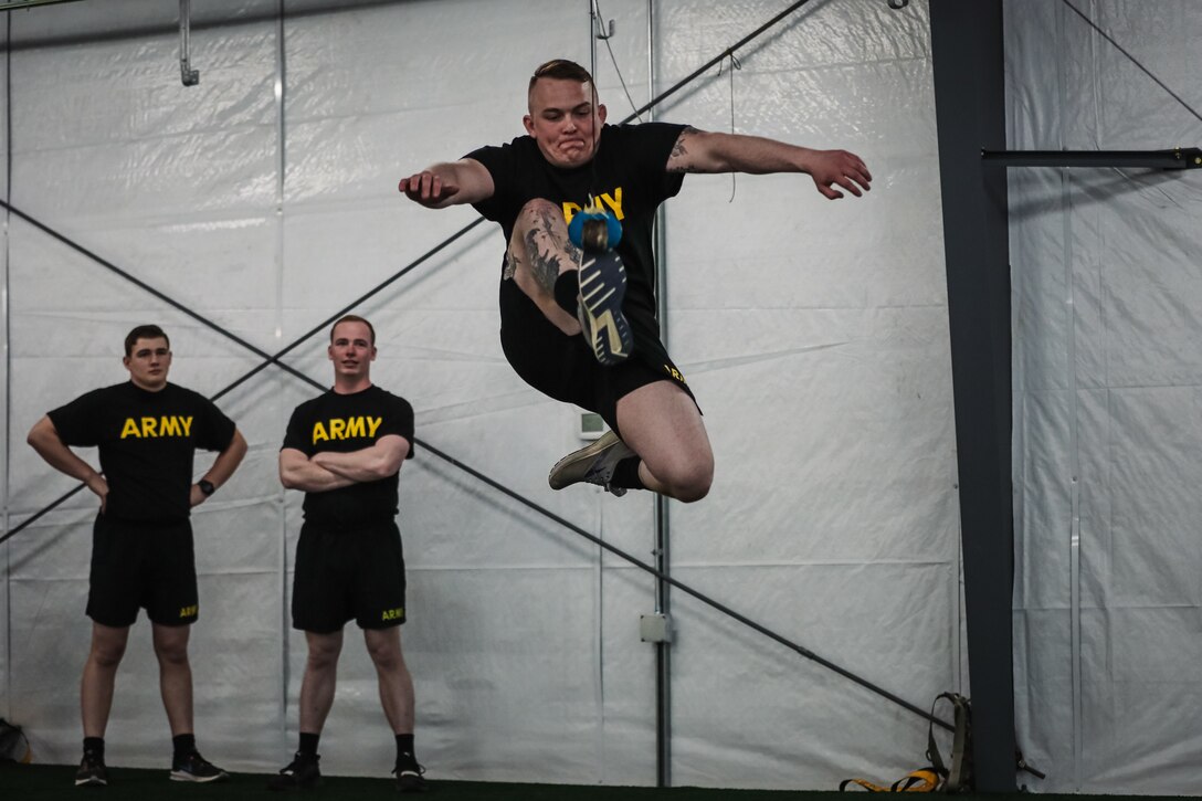
[[[154, 23], [135, 16], [139, 6], [105, 5], [118, 29]], [[96, 11], [95, 4], [77, 7]], [[67, 7], [59, 13], [73, 18]], [[219, 35], [194, 31], [194, 54], [204, 60], [195, 90], [179, 82], [178, 29], [18, 47], [12, 61], [20, 79], [8, 99], [14, 206], [264, 349], [278, 346], [274, 31], [270, 19]], [[16, 38], [41, 35], [18, 30]], [[165, 326], [177, 360], [172, 379], [197, 391], [215, 393], [257, 364], [237, 344], [30, 226], [13, 222], [10, 231], [12, 382], [23, 387], [13, 393], [18, 443], [47, 409], [126, 379], [120, 343], [138, 322]], [[231, 766], [267, 764], [280, 753], [282, 493], [275, 451], [286, 410], [278, 381], [261, 379], [220, 402], [251, 450], [237, 480], [194, 517], [203, 621], [191, 648], [196, 730], [201, 748]], [[23, 511], [72, 487], [23, 444], [12, 459]], [[197, 473], [210, 462], [200, 456]], [[81, 612], [95, 504], [84, 492], [66, 508], [70, 524], [48, 522], [14, 546], [29, 550], [13, 571], [20, 588], [13, 618], [22, 627], [37, 623], [14, 660], [14, 717], [43, 738], [38, 758], [47, 761], [76, 759], [78, 672], [88, 646]], [[55, 702], [40, 702], [47, 695]], [[169, 756], [162, 722], [143, 623], [119, 672], [112, 761], [161, 767]]]

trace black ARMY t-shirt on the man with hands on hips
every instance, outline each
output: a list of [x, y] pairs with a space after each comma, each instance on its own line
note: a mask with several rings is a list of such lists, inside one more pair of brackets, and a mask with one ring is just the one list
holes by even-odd
[[196, 449], [224, 451], [236, 428], [212, 400], [174, 384], [93, 390], [48, 416], [65, 445], [100, 449], [105, 516], [129, 522], [188, 520]]

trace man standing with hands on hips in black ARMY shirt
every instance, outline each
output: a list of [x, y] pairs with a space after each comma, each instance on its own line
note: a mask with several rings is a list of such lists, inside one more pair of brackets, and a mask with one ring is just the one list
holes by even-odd
[[[130, 380], [83, 394], [34, 425], [29, 444], [54, 469], [83, 481], [100, 499], [93, 528], [88, 616], [91, 649], [79, 689], [83, 760], [77, 785], [105, 785], [105, 730], [117, 668], [138, 609], [147, 610], [159, 659], [159, 686], [171, 725], [171, 778], [226, 778], [196, 749], [192, 730], [190, 627], [200, 616], [191, 509], [204, 503], [246, 453], [233, 421], [206, 397], [168, 384], [171, 343], [162, 328], [138, 326], [125, 338]], [[102, 473], [72, 447], [99, 447]], [[197, 449], [218, 451], [192, 482]]]

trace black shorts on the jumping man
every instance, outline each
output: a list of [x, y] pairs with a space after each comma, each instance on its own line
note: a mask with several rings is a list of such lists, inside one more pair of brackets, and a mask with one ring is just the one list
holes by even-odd
[[657, 339], [636, 337], [635, 352], [613, 367], [597, 362], [584, 337], [567, 337], [558, 328], [551, 327], [536, 348], [530, 348], [530, 342], [501, 331], [501, 350], [522, 380], [557, 400], [597, 413], [619, 435], [618, 400], [638, 387], [667, 380], [697, 403]]

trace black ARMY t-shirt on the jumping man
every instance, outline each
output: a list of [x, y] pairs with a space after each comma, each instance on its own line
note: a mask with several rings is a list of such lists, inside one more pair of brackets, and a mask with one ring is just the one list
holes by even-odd
[[[655, 315], [655, 259], [653, 236], [655, 210], [680, 191], [683, 173], [666, 171], [672, 147], [683, 125], [644, 123], [605, 125], [596, 155], [585, 165], [557, 167], [547, 161], [538, 144], [522, 136], [508, 144], [486, 147], [466, 158], [480, 161], [493, 177], [494, 191], [475, 208], [499, 222], [505, 241], [513, 236], [518, 212], [541, 197], [564, 208], [564, 216], [588, 206], [595, 197], [621, 222], [618, 253], [626, 267], [626, 298], [623, 310], [635, 334], [635, 352], [659, 344]], [[502, 260], [504, 271], [504, 260]], [[501, 280], [501, 336], [513, 344], [537, 342], [559, 333], [516, 281]], [[654, 360], [657, 364], [659, 358]]]

